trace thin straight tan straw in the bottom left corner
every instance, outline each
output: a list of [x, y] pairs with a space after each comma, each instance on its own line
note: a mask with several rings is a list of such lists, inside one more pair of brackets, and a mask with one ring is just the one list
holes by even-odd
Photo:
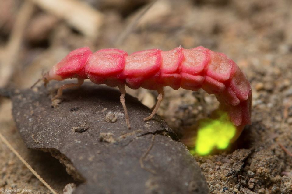
[[35, 175], [40, 180], [40, 182], [42, 182], [53, 194], [57, 194], [57, 192], [55, 192], [55, 190], [51, 188], [51, 186], [48, 185], [47, 182], [45, 182], [45, 180], [41, 178], [35, 170], [33, 170], [33, 168], [23, 159], [23, 157], [20, 156], [20, 154], [12, 147], [12, 145], [5, 139], [5, 137], [1, 133], [0, 139], [9, 148], [9, 150], [11, 150], [18, 157], [18, 159], [23, 162], [23, 164], [33, 173], [33, 175]]

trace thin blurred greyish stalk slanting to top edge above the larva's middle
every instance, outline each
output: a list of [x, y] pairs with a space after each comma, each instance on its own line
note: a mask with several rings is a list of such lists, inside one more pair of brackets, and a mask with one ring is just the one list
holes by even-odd
[[117, 38], [115, 45], [120, 46], [125, 38], [131, 33], [131, 31], [135, 28], [135, 26], [138, 24], [138, 22], [141, 20], [141, 18], [148, 12], [148, 10], [157, 2], [158, 0], [154, 0], [151, 2], [142, 12], [137, 16], [136, 19], [134, 19], [132, 22], [128, 24], [126, 29], [120, 34], [120, 36]]

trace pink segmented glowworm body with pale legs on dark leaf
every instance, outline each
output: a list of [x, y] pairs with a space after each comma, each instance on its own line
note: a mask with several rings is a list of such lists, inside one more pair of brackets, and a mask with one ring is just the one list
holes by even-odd
[[88, 47], [70, 52], [56, 64], [44, 78], [63, 80], [77, 78], [78, 84], [65, 84], [54, 97], [62, 95], [62, 90], [79, 86], [84, 79], [96, 84], [118, 86], [121, 90], [121, 102], [125, 111], [128, 127], [129, 120], [125, 106], [125, 85], [132, 89], [143, 87], [157, 90], [158, 101], [149, 120], [156, 113], [163, 96], [163, 87], [179, 87], [187, 90], [202, 88], [209, 94], [215, 94], [220, 109], [227, 111], [238, 134], [246, 124], [251, 123], [251, 86], [234, 61], [223, 53], [211, 51], [202, 46], [171, 51], [150, 49], [128, 55], [125, 51], [108, 48], [92, 53]]

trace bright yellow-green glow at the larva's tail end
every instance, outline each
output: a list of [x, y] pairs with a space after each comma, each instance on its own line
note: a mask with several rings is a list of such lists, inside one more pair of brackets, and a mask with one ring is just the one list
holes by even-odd
[[234, 137], [236, 127], [230, 121], [227, 113], [220, 113], [217, 119], [202, 119], [199, 121], [198, 135], [196, 138], [196, 147], [191, 153], [206, 155], [213, 148], [225, 149], [230, 140]]

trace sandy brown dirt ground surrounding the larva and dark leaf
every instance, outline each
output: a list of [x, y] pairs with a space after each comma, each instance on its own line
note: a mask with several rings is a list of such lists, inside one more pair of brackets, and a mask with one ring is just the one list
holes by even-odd
[[[12, 73], [5, 86], [30, 87], [44, 69], [50, 69], [69, 51], [82, 46], [89, 46], [91, 50], [117, 47], [132, 53], [149, 48], [170, 50], [179, 45], [184, 48], [202, 45], [223, 52], [237, 63], [251, 82], [252, 125], [246, 126], [240, 138], [227, 150], [195, 156], [210, 192], [292, 193], [292, 156], [280, 146], [292, 152], [290, 0], [159, 0], [132, 26], [132, 21], [151, 1], [87, 2], [104, 15], [103, 26], [95, 37], [66, 19], [31, 5], [33, 11], [22, 30], [21, 44], [16, 44], [19, 51], [14, 49], [12, 53], [7, 52], [7, 45], [22, 6], [16, 0], [0, 2], [0, 66], [12, 64], [9, 66], [12, 68], [0, 69], [5, 75]], [[11, 57], [12, 62], [7, 59]], [[155, 104], [156, 92], [128, 88], [127, 92], [148, 107]], [[165, 88], [158, 115], [179, 135], [185, 127], [217, 106], [215, 97], [203, 91]], [[40, 151], [26, 149], [13, 122], [11, 107], [9, 99], [0, 97], [1, 133], [61, 193], [66, 184], [74, 181], [57, 160]], [[49, 193], [2, 142], [1, 145], [0, 193], [6, 188]], [[43, 169], [47, 160], [52, 162]], [[49, 167], [59, 169], [60, 174]], [[60, 181], [54, 181], [57, 178]]]

